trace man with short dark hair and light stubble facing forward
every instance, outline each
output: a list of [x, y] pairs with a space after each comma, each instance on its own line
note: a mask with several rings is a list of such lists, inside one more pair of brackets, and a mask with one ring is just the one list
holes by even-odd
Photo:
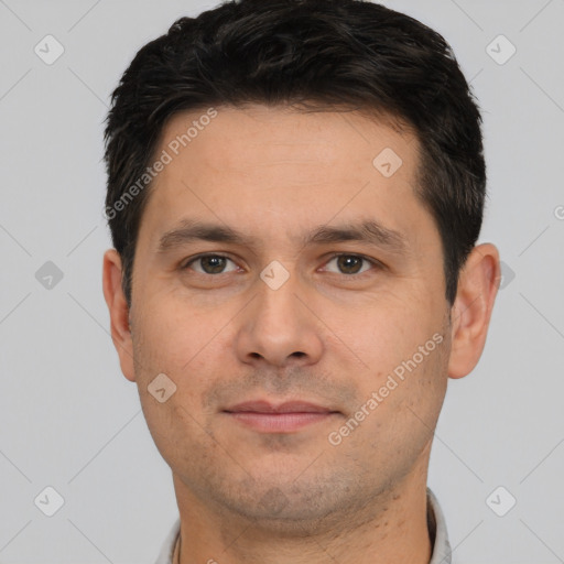
[[433, 432], [500, 271], [445, 41], [228, 2], [137, 54], [106, 139], [111, 334], [180, 510], [158, 562], [451, 562]]

